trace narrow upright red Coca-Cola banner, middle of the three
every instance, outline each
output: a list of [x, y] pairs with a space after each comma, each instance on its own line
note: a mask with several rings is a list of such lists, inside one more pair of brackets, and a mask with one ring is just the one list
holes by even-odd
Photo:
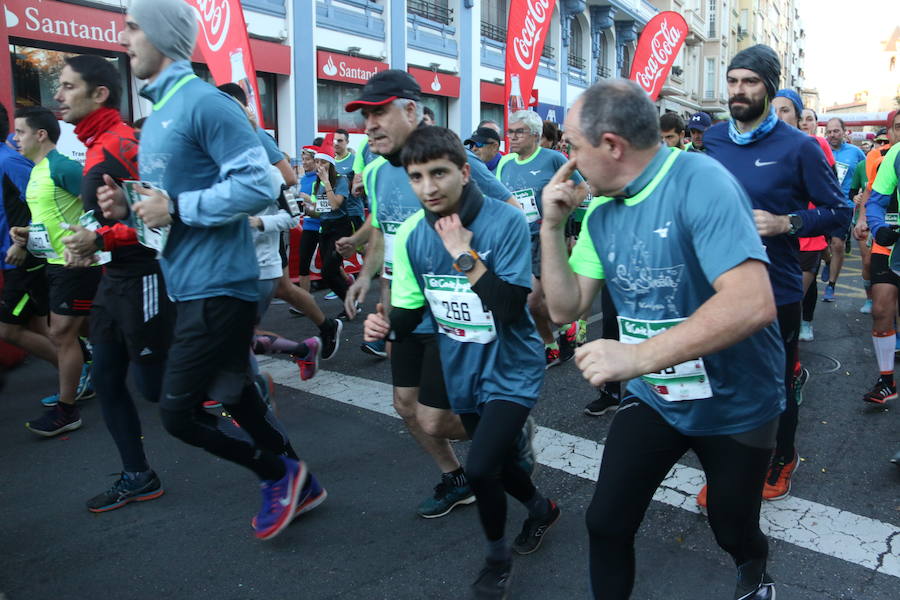
[[[556, 0], [511, 0], [506, 27], [506, 85], [503, 97], [504, 130], [509, 113], [524, 110], [536, 101], [532, 90], [541, 64], [544, 40]], [[526, 100], [527, 99], [527, 100]]]

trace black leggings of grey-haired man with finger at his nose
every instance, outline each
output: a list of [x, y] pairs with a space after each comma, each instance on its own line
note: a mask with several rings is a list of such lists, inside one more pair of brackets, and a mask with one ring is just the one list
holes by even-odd
[[759, 506], [774, 426], [738, 436], [689, 437], [626, 396], [610, 426], [586, 516], [593, 597], [625, 600], [631, 595], [635, 533], [659, 484], [688, 450], [706, 472], [716, 542], [735, 565], [755, 560], [763, 569], [768, 543], [759, 529]]

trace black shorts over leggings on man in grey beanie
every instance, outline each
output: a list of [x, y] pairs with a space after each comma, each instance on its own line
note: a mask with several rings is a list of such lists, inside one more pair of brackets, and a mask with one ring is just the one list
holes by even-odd
[[160, 408], [190, 410], [207, 399], [237, 404], [250, 381], [256, 302], [230, 296], [175, 303], [175, 330]]

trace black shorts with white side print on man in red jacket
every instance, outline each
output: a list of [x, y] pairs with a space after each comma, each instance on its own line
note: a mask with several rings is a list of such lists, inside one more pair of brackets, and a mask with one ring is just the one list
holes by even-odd
[[91, 342], [123, 344], [136, 363], [165, 360], [175, 309], [162, 274], [109, 277], [100, 281], [91, 310]]

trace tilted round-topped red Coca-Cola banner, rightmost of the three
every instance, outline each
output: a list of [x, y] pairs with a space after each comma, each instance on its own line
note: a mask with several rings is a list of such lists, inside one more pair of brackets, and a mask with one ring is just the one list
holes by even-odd
[[659, 96], [687, 32], [684, 17], [672, 11], [661, 12], [650, 19], [641, 32], [629, 79], [644, 88], [651, 100]]

